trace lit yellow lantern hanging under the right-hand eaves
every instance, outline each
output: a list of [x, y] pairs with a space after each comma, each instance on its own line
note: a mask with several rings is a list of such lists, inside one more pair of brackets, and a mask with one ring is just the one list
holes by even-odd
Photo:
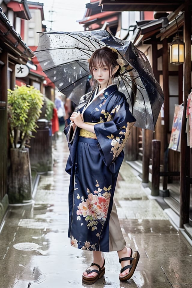
[[180, 65], [184, 62], [184, 43], [179, 36], [173, 38], [170, 45], [170, 63]]

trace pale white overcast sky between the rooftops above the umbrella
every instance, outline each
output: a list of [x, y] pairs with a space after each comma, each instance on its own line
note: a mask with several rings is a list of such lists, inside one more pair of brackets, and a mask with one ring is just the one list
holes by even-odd
[[[82, 31], [82, 25], [76, 20], [83, 19], [85, 13], [85, 4], [89, 0], [33, 0], [35, 2], [44, 3], [45, 21], [43, 24], [47, 26], [47, 31]], [[50, 21], [53, 21], [52, 24]]]

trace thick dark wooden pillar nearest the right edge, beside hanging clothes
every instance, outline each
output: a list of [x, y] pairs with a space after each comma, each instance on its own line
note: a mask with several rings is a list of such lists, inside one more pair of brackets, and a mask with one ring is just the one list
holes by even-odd
[[185, 0], [184, 8], [184, 110], [181, 129], [181, 167], [180, 167], [180, 228], [185, 223], [189, 223], [190, 206], [190, 151], [187, 146], [186, 128], [186, 107], [187, 97], [190, 93], [191, 83], [191, 11], [189, 9], [189, 0]]

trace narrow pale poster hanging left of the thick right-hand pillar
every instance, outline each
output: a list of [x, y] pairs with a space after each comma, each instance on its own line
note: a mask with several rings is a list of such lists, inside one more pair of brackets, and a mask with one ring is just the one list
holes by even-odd
[[171, 138], [169, 143], [169, 149], [180, 152], [180, 135], [181, 135], [181, 124], [183, 116], [183, 104], [175, 105], [175, 112], [173, 116], [173, 125], [171, 130]]

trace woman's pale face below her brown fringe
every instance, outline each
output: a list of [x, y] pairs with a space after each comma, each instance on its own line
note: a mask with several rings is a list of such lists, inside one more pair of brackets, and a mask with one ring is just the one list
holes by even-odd
[[107, 85], [112, 84], [112, 79], [110, 77], [110, 70], [106, 65], [102, 65], [101, 67], [93, 66], [93, 76], [100, 84], [100, 88], [103, 89], [107, 87]]

